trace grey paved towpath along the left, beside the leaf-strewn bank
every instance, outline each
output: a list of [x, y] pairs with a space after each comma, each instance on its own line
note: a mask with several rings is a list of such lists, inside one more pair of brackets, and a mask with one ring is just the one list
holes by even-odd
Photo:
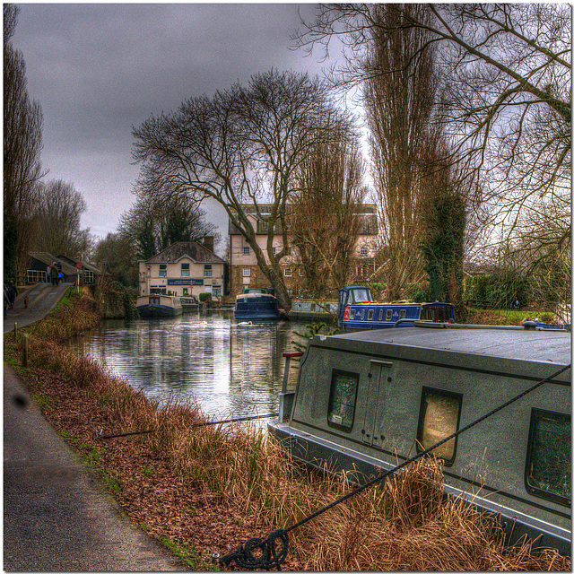
[[[29, 313], [14, 305], [19, 326], [56, 305], [46, 289]], [[4, 365], [4, 571], [165, 570], [188, 569], [120, 512]]]

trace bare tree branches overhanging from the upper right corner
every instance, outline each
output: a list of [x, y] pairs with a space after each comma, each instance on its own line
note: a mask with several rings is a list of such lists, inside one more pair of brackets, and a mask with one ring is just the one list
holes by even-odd
[[[455, 143], [453, 160], [466, 168], [461, 174], [477, 198], [491, 202], [493, 221], [515, 225], [541, 197], [570, 189], [570, 4], [421, 6], [396, 9], [404, 16], [401, 29], [428, 34], [420, 53], [438, 47], [440, 121]], [[348, 85], [392, 72], [362, 65], [374, 30], [396, 33], [378, 19], [378, 4], [324, 4], [298, 40], [310, 49], [343, 39], [349, 57], [333, 77]], [[563, 223], [570, 233], [570, 219]]]

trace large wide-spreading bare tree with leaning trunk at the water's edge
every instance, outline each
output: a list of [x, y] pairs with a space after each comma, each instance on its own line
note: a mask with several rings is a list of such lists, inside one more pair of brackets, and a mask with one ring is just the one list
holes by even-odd
[[[186, 100], [177, 111], [135, 129], [134, 157], [142, 163], [138, 185], [150, 194], [170, 189], [222, 204], [289, 310], [279, 264], [290, 253], [286, 204], [293, 174], [313, 145], [340, 137], [342, 129], [348, 129], [346, 116], [322, 83], [307, 74], [257, 74], [247, 88], [237, 84], [213, 98]], [[257, 223], [245, 204], [254, 207]], [[267, 231], [265, 248], [257, 244], [257, 225]], [[274, 253], [276, 234], [283, 248]]]

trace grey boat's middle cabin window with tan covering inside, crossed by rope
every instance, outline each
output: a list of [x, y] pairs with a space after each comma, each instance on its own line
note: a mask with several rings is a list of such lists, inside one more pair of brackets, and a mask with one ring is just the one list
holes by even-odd
[[[422, 452], [458, 430], [462, 395], [422, 387], [421, 413], [417, 432], [417, 450]], [[457, 455], [457, 439], [450, 439], [432, 451], [450, 466]]]

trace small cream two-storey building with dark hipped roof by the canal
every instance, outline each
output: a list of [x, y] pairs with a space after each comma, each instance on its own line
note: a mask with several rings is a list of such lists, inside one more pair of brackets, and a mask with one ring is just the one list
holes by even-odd
[[178, 297], [223, 294], [225, 262], [213, 253], [213, 238], [204, 244], [178, 241], [146, 261], [139, 262], [140, 295], [154, 293]]

